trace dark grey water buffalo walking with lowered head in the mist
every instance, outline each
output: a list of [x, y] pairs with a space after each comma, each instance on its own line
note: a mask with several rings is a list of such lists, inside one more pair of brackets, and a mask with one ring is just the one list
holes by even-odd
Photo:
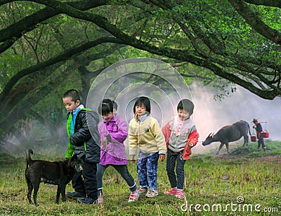
[[[250, 127], [248, 122], [245, 122], [244, 120], [240, 120], [238, 122], [233, 123], [232, 125], [226, 125], [218, 130], [216, 134], [211, 133], [205, 141], [202, 143], [203, 146], [207, 146], [211, 144], [213, 141], [220, 141], [221, 145], [218, 148], [218, 152], [221, 151], [221, 148], [223, 148], [223, 145], [226, 144], [226, 149], [229, 153], [228, 143], [230, 141], [236, 141], [240, 139], [242, 136], [244, 136], [244, 144], [243, 146], [247, 145], [249, 142], [248, 132], [250, 134]], [[230, 154], [230, 153], [229, 153]]]

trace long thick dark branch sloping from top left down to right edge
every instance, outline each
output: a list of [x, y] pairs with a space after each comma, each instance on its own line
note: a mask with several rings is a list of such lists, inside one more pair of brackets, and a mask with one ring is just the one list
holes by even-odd
[[[145, 51], [149, 51], [150, 53], [155, 53], [157, 55], [164, 55], [168, 56], [170, 58], [175, 58], [181, 61], [188, 61], [192, 64], [202, 66], [204, 68], [208, 68], [211, 71], [213, 71], [216, 75], [225, 78], [226, 80], [235, 81], [236, 84], [239, 84], [242, 87], [245, 87], [246, 89], [249, 89], [249, 91], [253, 92], [254, 94], [257, 94], [261, 96], [264, 99], [273, 99], [275, 96], [280, 95], [280, 89], [276, 88], [272, 91], [263, 91], [254, 84], [251, 84], [251, 82], [247, 82], [245, 80], [242, 80], [237, 75], [227, 73], [226, 71], [223, 71], [218, 65], [215, 65], [214, 63], [209, 62], [208, 60], [203, 60], [202, 58], [197, 58], [196, 56], [192, 56], [188, 53], [185, 53], [183, 51], [178, 51], [174, 49], [160, 49], [159, 47], [152, 46], [151, 44], [142, 42], [141, 40], [136, 39], [135, 37], [131, 37], [121, 30], [119, 30], [115, 25], [110, 24], [106, 18], [100, 15], [95, 15], [93, 13], [87, 13], [84, 11], [79, 11], [76, 8], [73, 8], [67, 4], [64, 4], [60, 1], [55, 0], [34, 0], [34, 2], [37, 2], [39, 4], [44, 4], [46, 6], [50, 6], [52, 8], [55, 8], [58, 11], [61, 11], [62, 13], [65, 13], [67, 15], [72, 16], [73, 18], [79, 18], [81, 20], [88, 20], [92, 23], [95, 23], [99, 27], [107, 30], [111, 34], [113, 34], [118, 39], [122, 40], [124, 44], [133, 46], [137, 49], [143, 49]], [[121, 42], [120, 42], [121, 43]]]

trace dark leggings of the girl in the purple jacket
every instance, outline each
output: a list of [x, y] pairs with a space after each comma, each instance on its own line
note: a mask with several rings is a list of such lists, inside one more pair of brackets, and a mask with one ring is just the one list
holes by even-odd
[[126, 165], [100, 165], [98, 164], [98, 172], [97, 172], [97, 180], [98, 180], [98, 196], [100, 194], [103, 196], [103, 174], [107, 167], [112, 166], [115, 167], [115, 170], [121, 174], [123, 179], [129, 186], [130, 191], [136, 191], [136, 183], [130, 172], [127, 169]]

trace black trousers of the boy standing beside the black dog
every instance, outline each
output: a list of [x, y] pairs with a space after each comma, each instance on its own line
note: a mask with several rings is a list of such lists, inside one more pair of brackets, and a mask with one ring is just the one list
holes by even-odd
[[[98, 186], [96, 179], [97, 164], [84, 161], [82, 172], [75, 172], [72, 178], [72, 187], [79, 193], [96, 200], [98, 198]], [[82, 178], [83, 175], [83, 178]]]

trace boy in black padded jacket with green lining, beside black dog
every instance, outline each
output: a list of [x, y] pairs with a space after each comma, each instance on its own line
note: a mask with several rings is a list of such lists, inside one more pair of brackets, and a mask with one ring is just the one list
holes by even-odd
[[76, 172], [72, 178], [74, 192], [67, 191], [67, 196], [77, 198], [80, 203], [92, 204], [98, 199], [96, 171], [100, 162], [99, 116], [84, 108], [75, 89], [63, 94], [63, 105], [69, 112], [67, 134], [70, 137], [65, 158], [75, 154], [83, 161], [82, 172]]

